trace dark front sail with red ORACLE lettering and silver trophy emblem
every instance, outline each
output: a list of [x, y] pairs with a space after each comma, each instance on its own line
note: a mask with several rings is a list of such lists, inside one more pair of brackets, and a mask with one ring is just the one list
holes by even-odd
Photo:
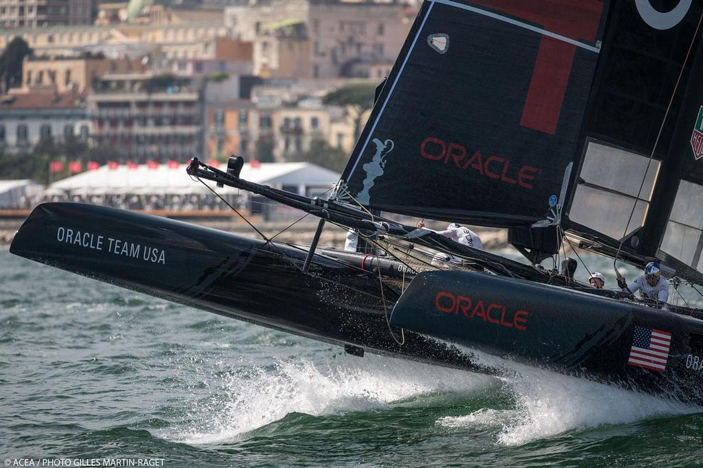
[[425, 1], [340, 199], [484, 226], [559, 223], [605, 4]]

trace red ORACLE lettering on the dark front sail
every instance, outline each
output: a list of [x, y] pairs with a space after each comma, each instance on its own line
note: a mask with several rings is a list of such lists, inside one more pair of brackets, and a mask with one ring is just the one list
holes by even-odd
[[428, 160], [443, 161], [444, 164], [449, 164], [451, 161], [459, 169], [472, 169], [482, 176], [528, 189], [533, 187], [531, 181], [534, 181], [536, 174], [541, 172], [540, 169], [531, 166], [523, 166], [516, 172], [515, 169], [510, 168], [508, 158], [488, 155], [484, 159], [480, 151], [469, 156], [465, 146], [459, 143], [446, 143], [434, 136], [429, 136], [420, 143], [420, 155]]

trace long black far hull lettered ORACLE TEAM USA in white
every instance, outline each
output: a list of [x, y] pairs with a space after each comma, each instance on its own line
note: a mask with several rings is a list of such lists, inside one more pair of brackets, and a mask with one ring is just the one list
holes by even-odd
[[[489, 372], [453, 346], [389, 332], [372, 273], [307, 252], [157, 216], [89, 204], [34, 209], [13, 254], [221, 316], [340, 346]], [[385, 288], [388, 313], [398, 299]], [[400, 337], [400, 330], [394, 334]], [[358, 350], [356, 350], [358, 352]]]

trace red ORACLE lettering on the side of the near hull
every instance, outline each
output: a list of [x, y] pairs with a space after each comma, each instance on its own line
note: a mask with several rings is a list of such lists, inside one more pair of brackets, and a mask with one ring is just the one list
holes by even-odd
[[510, 312], [501, 304], [484, 303], [480, 299], [472, 302], [468, 296], [456, 296], [451, 292], [440, 291], [434, 297], [434, 306], [440, 312], [453, 313], [457, 316], [461, 313], [465, 318], [482, 318], [484, 322], [499, 327], [527, 330], [529, 312]]

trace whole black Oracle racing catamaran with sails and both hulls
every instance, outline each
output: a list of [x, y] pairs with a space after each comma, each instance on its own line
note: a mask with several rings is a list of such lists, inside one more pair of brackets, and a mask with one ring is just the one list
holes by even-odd
[[[212, 190], [317, 216], [309, 246], [49, 203], [11, 252], [357, 356], [498, 372], [476, 349], [703, 403], [700, 311], [541, 266], [568, 242], [703, 284], [703, 5], [655, 6], [426, 0], [329, 197], [246, 181], [241, 157], [191, 161]], [[396, 215], [507, 228], [528, 262]], [[318, 247], [328, 223], [366, 247]]]

